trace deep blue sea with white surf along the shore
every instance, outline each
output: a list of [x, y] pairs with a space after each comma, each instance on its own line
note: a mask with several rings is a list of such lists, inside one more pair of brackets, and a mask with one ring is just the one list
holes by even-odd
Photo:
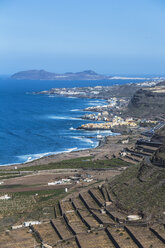
[[[139, 81], [139, 80], [138, 80]], [[27, 94], [52, 87], [124, 84], [111, 81], [32, 81], [0, 79], [0, 165], [17, 164], [61, 152], [96, 147], [97, 132], [76, 130], [80, 117], [103, 100]], [[102, 132], [102, 135], [114, 135]]]

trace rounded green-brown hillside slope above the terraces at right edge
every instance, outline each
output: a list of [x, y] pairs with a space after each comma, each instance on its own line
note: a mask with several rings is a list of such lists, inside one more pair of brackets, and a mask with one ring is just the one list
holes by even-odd
[[[165, 143], [164, 134], [165, 128], [156, 134], [157, 141], [160, 137]], [[165, 166], [161, 163], [165, 161], [164, 152], [165, 145], [162, 145], [151, 162], [145, 159], [109, 183], [117, 207], [129, 214], [141, 213], [148, 221], [165, 221]]]

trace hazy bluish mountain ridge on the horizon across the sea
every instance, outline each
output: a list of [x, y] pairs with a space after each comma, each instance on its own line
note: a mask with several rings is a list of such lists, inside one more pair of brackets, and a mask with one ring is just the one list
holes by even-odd
[[100, 75], [92, 70], [82, 72], [53, 73], [45, 70], [20, 71], [11, 76], [13, 79], [28, 80], [101, 80], [108, 79], [107, 76]]

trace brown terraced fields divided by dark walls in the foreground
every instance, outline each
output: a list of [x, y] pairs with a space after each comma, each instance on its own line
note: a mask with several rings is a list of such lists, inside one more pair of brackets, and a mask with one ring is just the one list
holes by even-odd
[[164, 225], [149, 228], [144, 220], [129, 222], [113, 202], [108, 206], [106, 202], [110, 202], [108, 189], [95, 187], [61, 201], [60, 215], [50, 222], [10, 231], [0, 236], [0, 244], [2, 248], [165, 247]]

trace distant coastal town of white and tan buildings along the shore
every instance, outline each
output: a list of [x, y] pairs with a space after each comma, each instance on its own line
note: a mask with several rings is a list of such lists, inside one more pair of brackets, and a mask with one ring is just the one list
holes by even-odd
[[[155, 119], [152, 113], [147, 118], [143, 118], [143, 115], [131, 112], [131, 98], [136, 94], [136, 92], [141, 91], [141, 88], [143, 88], [144, 92], [149, 91], [152, 92], [152, 94], [154, 92], [159, 93], [160, 89], [157, 86], [159, 83], [161, 83], [161, 80], [114, 86], [75, 87], [62, 89], [53, 88], [48, 91], [34, 92], [33, 94], [104, 99], [106, 101], [104, 105], [92, 106], [83, 109], [83, 111], [89, 113], [86, 113], [81, 118], [94, 121], [94, 123], [82, 124], [77, 127], [77, 129], [129, 132], [131, 129], [138, 128], [139, 126], [152, 127], [158, 123], [159, 120]], [[164, 92], [164, 86], [161, 87], [161, 91], [161, 93]]]

